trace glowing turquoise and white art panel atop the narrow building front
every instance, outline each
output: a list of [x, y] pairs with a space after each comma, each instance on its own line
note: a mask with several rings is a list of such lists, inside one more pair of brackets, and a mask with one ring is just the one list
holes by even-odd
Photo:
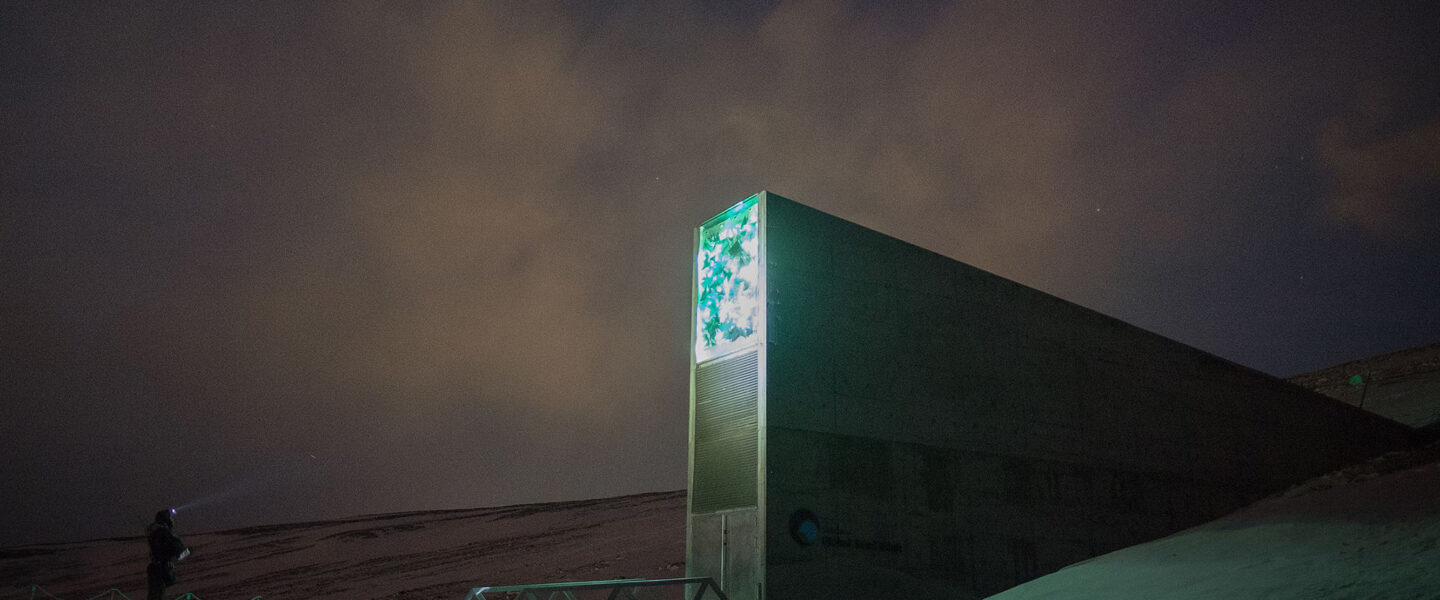
[[696, 363], [749, 347], [760, 318], [760, 196], [700, 227]]

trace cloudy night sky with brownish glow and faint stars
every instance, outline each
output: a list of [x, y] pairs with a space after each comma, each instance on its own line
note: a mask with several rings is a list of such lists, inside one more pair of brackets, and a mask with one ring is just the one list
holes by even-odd
[[0, 545], [683, 488], [762, 188], [1276, 376], [1440, 341], [1440, 17], [1320, 4], [4, 3]]

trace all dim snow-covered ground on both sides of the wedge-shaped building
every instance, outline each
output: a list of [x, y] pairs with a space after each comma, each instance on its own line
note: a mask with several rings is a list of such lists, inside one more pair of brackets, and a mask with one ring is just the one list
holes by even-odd
[[[1292, 381], [1414, 426], [1440, 422], [1440, 345]], [[1431, 429], [1436, 429], [1431, 426]], [[180, 532], [202, 600], [448, 599], [471, 587], [684, 574], [684, 492]], [[138, 531], [137, 531], [138, 534]], [[140, 537], [0, 550], [0, 600], [144, 597]], [[37, 596], [40, 597], [40, 596]], [[1066, 567], [996, 600], [1440, 599], [1440, 443], [1297, 485], [1228, 517]]]

